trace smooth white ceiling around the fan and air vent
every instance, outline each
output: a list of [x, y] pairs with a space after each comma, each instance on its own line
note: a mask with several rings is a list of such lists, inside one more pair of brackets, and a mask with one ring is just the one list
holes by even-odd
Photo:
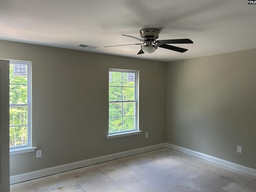
[[[137, 55], [143, 28], [184, 53], [158, 48]], [[173, 61], [256, 48], [256, 5], [247, 0], [0, 0], [0, 39], [134, 58]], [[81, 48], [78, 44], [97, 46]]]

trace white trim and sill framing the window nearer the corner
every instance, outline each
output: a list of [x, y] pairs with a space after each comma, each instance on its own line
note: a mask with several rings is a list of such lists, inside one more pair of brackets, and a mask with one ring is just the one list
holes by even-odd
[[[109, 133], [106, 136], [107, 139], [110, 138], [116, 138], [116, 137], [123, 137], [123, 136], [130, 136], [130, 135], [135, 135], [135, 134], [140, 134], [142, 132], [142, 130], [140, 130], [139, 127], [139, 71], [137, 70], [124, 70], [124, 69], [113, 69], [110, 68], [108, 70], [109, 72], [136, 72], [136, 81], [135, 81], [135, 95], [136, 95], [136, 129], [135, 130], [130, 130], [130, 131], [122, 131], [122, 132], [113, 132], [113, 133]], [[109, 128], [108, 128], [109, 131]]]

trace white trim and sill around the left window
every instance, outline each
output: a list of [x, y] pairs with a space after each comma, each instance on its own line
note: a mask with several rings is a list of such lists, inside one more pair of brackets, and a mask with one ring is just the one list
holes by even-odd
[[10, 155], [33, 152], [37, 147], [32, 147], [32, 66], [30, 61], [10, 60], [10, 64], [26, 64], [28, 82], [28, 144], [24, 146], [10, 147]]

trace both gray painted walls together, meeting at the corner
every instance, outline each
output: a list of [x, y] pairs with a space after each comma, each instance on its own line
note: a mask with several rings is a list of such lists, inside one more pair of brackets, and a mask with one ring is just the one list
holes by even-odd
[[32, 143], [42, 150], [10, 156], [11, 176], [166, 141], [256, 169], [256, 49], [157, 62], [157, 75], [143, 60], [143, 132], [107, 140], [108, 68], [140, 70], [140, 59], [0, 45], [0, 58], [32, 61]]

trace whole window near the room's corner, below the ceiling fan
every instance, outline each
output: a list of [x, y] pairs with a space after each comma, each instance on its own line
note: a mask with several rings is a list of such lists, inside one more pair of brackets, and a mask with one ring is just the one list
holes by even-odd
[[108, 81], [109, 135], [138, 131], [138, 72], [110, 69]]

